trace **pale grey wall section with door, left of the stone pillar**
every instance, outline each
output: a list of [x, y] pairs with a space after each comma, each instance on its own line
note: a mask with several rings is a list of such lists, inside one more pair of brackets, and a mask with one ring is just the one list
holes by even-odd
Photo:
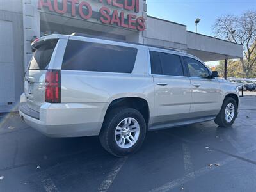
[[24, 90], [21, 3], [0, 0], [0, 113], [17, 110]]

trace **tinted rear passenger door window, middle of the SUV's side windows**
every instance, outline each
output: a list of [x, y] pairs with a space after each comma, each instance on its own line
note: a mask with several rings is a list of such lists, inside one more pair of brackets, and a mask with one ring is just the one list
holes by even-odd
[[152, 74], [184, 76], [179, 55], [150, 51], [150, 60]]

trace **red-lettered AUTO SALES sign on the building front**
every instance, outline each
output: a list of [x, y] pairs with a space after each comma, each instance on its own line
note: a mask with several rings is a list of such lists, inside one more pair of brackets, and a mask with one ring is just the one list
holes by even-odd
[[[39, 0], [38, 9], [55, 12], [58, 14], [69, 13], [71, 17], [79, 16], [81, 19], [99, 19], [102, 24], [120, 26], [122, 28], [145, 30], [145, 19], [128, 13], [125, 17], [125, 10], [128, 12], [140, 12], [140, 0], [94, 0], [102, 4], [97, 12], [92, 10], [88, 1], [79, 0]], [[111, 11], [107, 6], [113, 7]]]

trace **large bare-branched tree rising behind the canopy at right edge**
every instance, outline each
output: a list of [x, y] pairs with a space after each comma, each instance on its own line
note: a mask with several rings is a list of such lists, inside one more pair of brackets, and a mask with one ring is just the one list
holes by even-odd
[[243, 45], [244, 57], [240, 59], [244, 76], [249, 77], [256, 65], [256, 11], [248, 10], [239, 17], [223, 15], [214, 23], [214, 33], [219, 38]]

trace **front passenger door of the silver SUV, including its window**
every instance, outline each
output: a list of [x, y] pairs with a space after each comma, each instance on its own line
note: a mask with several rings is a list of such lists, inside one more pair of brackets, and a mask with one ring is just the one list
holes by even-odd
[[220, 111], [221, 90], [218, 78], [209, 78], [211, 72], [203, 63], [184, 56], [191, 79], [191, 115], [203, 117], [216, 115]]

